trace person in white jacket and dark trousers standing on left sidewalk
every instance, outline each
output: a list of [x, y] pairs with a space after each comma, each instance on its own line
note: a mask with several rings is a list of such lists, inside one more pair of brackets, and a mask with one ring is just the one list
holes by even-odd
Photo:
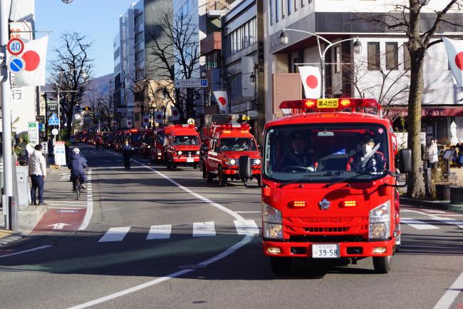
[[38, 205], [45, 205], [43, 203], [43, 186], [46, 178], [46, 163], [42, 155], [41, 144], [36, 145], [35, 150], [29, 156], [29, 176], [31, 177], [31, 204], [36, 204], [36, 191], [38, 189]]

